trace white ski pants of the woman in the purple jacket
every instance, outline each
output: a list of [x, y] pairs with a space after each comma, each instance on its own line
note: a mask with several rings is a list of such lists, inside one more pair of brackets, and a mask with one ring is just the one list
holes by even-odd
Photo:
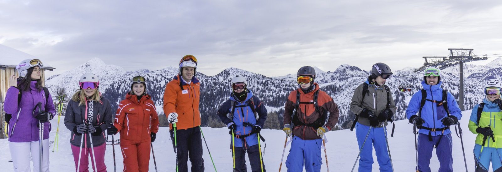
[[[44, 139], [43, 147], [43, 161], [42, 171], [49, 172], [49, 139]], [[30, 155], [33, 159], [33, 171], [40, 171], [40, 143], [39, 141], [31, 142], [11, 142], [9, 141], [9, 148], [11, 149], [12, 162], [14, 164], [15, 172], [31, 172], [30, 168]]]

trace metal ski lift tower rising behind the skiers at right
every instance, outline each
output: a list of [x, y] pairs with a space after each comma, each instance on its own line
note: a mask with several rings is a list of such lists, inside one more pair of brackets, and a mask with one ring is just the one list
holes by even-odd
[[415, 69], [415, 73], [420, 73], [431, 66], [439, 67], [439, 69], [444, 69], [446, 67], [460, 65], [460, 87], [459, 87], [459, 95], [458, 101], [460, 109], [463, 111], [464, 109], [464, 62], [477, 61], [477, 60], [486, 60], [488, 59], [487, 55], [475, 55], [472, 50], [474, 49], [466, 49], [466, 48], [448, 48], [450, 54], [448, 56], [424, 56], [425, 59], [424, 65]]

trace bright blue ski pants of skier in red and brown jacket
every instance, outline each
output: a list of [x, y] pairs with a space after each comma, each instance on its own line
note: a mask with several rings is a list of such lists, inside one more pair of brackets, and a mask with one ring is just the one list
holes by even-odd
[[288, 172], [303, 171], [305, 162], [305, 170], [307, 172], [321, 171], [322, 139], [303, 140], [298, 136], [293, 136], [291, 149], [289, 150], [288, 158], [286, 159], [286, 167]]

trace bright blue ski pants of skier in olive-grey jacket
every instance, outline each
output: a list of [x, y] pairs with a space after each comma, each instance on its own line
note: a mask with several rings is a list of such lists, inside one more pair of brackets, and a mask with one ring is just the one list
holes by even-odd
[[[373, 146], [375, 148], [376, 160], [380, 166], [380, 171], [392, 171], [391, 159], [389, 158], [389, 151], [387, 150], [387, 140], [385, 139], [387, 134], [386, 128], [370, 127], [359, 122], [357, 122], [355, 127], [357, 144], [359, 144], [359, 150], [361, 150], [359, 171], [371, 171], [373, 164]], [[366, 139], [365, 143], [364, 139]], [[363, 143], [364, 146], [361, 149]]]

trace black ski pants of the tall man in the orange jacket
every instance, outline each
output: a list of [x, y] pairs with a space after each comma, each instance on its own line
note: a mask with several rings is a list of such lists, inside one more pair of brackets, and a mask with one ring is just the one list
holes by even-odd
[[[174, 131], [169, 130], [174, 145]], [[187, 161], [192, 162], [192, 172], [204, 172], [204, 159], [202, 159], [202, 139], [199, 126], [176, 130], [176, 141], [178, 145], [178, 171], [188, 172]], [[176, 171], [174, 169], [173, 171]]]

